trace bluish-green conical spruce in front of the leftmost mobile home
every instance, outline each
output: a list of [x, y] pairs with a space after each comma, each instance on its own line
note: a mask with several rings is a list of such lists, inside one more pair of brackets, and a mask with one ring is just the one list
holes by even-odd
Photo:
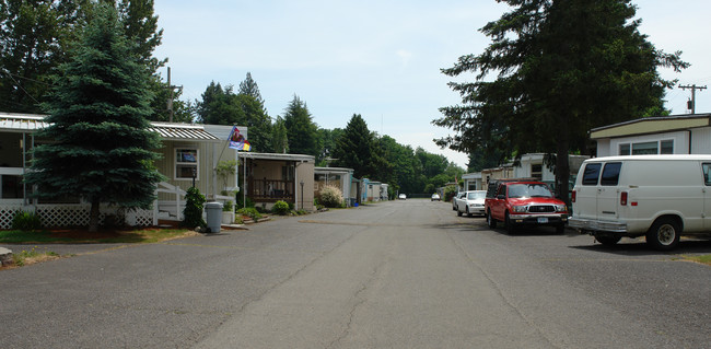
[[80, 196], [91, 203], [91, 231], [98, 205], [150, 208], [160, 147], [148, 130], [149, 71], [129, 45], [114, 7], [98, 5], [82, 31], [72, 59], [59, 67], [46, 104], [50, 126], [38, 137], [54, 143], [35, 150], [26, 175], [40, 197]]

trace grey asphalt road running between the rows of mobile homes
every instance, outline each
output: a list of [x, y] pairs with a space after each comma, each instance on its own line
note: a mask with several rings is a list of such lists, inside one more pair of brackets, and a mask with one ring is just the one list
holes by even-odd
[[679, 259], [707, 241], [508, 235], [409, 199], [109, 247], [0, 271], [0, 347], [711, 346], [711, 267]]

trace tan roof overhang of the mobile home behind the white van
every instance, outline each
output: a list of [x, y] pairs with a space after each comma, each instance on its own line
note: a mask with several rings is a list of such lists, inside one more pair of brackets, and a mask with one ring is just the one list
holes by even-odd
[[710, 126], [710, 119], [711, 114], [645, 117], [626, 123], [594, 128], [590, 131], [590, 138], [595, 140], [603, 138], [617, 138], [688, 130], [692, 128]]

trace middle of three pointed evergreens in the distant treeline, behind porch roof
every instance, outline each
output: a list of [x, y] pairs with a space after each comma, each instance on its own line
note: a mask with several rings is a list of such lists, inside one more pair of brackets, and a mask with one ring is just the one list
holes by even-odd
[[294, 154], [317, 156], [320, 150], [317, 142], [318, 126], [313, 121], [306, 104], [299, 96], [289, 103], [284, 110], [284, 126], [289, 140], [289, 151]]

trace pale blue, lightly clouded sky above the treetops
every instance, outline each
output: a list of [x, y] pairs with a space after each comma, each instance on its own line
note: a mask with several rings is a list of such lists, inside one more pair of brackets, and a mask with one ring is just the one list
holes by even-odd
[[[691, 68], [662, 71], [681, 84], [711, 85], [711, 3], [636, 1], [641, 32], [665, 51], [683, 50]], [[270, 116], [298, 95], [323, 128], [345, 128], [353, 114], [371, 130], [443, 154], [466, 168], [467, 156], [432, 139], [450, 133], [431, 120], [459, 96], [440, 72], [490, 43], [478, 30], [506, 7], [475, 1], [187, 1], [156, 0], [172, 83], [184, 100], [211, 81], [237, 86], [247, 72]], [[163, 75], [166, 71], [163, 69]], [[466, 77], [459, 80], [473, 80]], [[667, 108], [685, 114], [690, 91], [673, 90]], [[697, 91], [697, 113], [711, 112], [711, 91]]]

